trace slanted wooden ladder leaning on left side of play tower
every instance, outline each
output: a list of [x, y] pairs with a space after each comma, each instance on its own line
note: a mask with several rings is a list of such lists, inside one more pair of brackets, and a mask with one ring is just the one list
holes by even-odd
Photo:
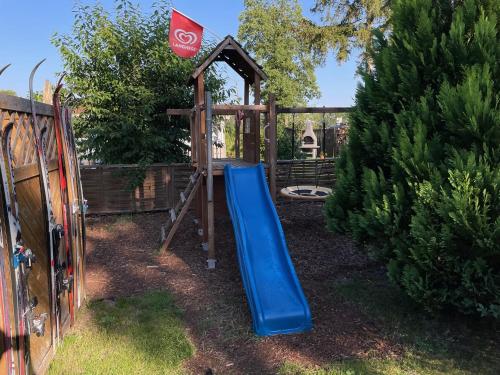
[[175, 205], [174, 208], [169, 210], [170, 217], [165, 225], [161, 227], [161, 247], [160, 252], [167, 250], [170, 242], [172, 242], [172, 238], [175, 235], [175, 232], [179, 228], [179, 225], [186, 215], [189, 205], [193, 201], [196, 192], [200, 188], [201, 181], [203, 180], [202, 174], [198, 171], [193, 173], [189, 177], [189, 183], [180, 193], [180, 199]]

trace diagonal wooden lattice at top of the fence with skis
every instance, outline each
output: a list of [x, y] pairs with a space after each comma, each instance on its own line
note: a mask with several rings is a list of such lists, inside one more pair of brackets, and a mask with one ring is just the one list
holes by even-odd
[[[47, 161], [57, 159], [57, 144], [52, 116], [37, 115], [38, 127], [43, 133]], [[31, 126], [31, 114], [0, 109], [2, 128], [13, 122], [11, 147], [14, 167], [36, 163], [35, 135]]]

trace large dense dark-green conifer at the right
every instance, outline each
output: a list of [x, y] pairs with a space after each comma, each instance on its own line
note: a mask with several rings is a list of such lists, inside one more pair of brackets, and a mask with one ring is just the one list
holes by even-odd
[[399, 0], [378, 33], [328, 226], [429, 310], [500, 317], [500, 43], [495, 1]]

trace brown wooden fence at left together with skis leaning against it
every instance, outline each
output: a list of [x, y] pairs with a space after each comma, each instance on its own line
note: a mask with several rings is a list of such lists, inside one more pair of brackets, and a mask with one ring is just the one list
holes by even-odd
[[42, 374], [85, 299], [86, 204], [71, 111], [57, 95], [51, 105], [0, 94], [0, 125], [0, 374]]

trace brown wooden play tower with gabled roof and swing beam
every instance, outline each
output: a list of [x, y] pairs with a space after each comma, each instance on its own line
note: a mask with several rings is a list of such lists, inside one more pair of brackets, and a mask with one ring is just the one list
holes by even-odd
[[[213, 104], [210, 92], [205, 90], [205, 72], [215, 62], [224, 62], [244, 81], [243, 104]], [[179, 203], [170, 210], [162, 228], [161, 250], [166, 250], [178, 229], [189, 205], [196, 200], [199, 233], [203, 236], [202, 247], [207, 251], [207, 265], [215, 268], [215, 212], [224, 206], [224, 166], [252, 166], [263, 163], [272, 200], [276, 200], [277, 166], [277, 115], [279, 113], [339, 113], [349, 108], [283, 108], [277, 107], [273, 94], [268, 102], [261, 103], [262, 83], [267, 79], [262, 67], [230, 35], [222, 40], [198, 65], [189, 79], [194, 87], [194, 107], [168, 109], [171, 116], [187, 116], [191, 129], [191, 164], [193, 174]], [[253, 104], [250, 104], [253, 96]], [[235, 158], [212, 158], [212, 117], [232, 115], [235, 118]], [[263, 124], [263, 126], [261, 126]], [[261, 143], [264, 151], [261, 152]], [[261, 157], [263, 155], [263, 157]], [[299, 195], [299, 194], [298, 194]], [[324, 198], [323, 198], [324, 199]]]

